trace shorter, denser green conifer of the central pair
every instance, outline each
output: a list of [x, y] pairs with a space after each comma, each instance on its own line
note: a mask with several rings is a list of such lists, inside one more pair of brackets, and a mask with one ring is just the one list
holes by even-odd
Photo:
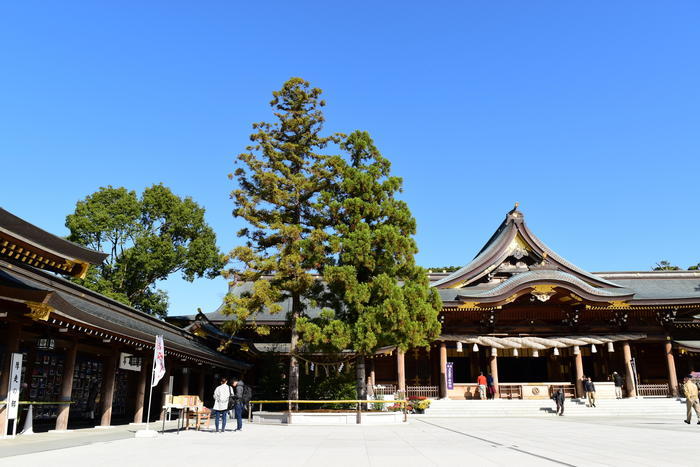
[[440, 335], [442, 303], [414, 260], [416, 222], [396, 198], [401, 178], [391, 176], [391, 163], [368, 133], [353, 132], [341, 148], [348, 160], [334, 158], [338, 182], [320, 199], [333, 225], [332, 261], [322, 267], [324, 304], [336, 313], [305, 319], [301, 330], [305, 340], [321, 345], [342, 343], [349, 335], [358, 397], [364, 398], [365, 357], [382, 346], [429, 346]]

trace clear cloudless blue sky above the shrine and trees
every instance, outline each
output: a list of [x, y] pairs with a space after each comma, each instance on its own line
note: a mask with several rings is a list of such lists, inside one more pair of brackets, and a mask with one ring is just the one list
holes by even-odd
[[[0, 6], [0, 204], [59, 235], [108, 184], [192, 196], [224, 250], [226, 175], [270, 93], [369, 131], [424, 266], [470, 260], [520, 202], [591, 271], [700, 261], [697, 1], [30, 1]], [[162, 286], [171, 314], [223, 280]]]

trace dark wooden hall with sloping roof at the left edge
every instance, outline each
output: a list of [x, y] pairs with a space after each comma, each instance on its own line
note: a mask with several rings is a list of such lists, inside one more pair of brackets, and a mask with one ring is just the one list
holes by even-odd
[[35, 431], [144, 421], [156, 335], [164, 339], [166, 375], [154, 388], [151, 420], [164, 394], [207, 400], [217, 373], [250, 367], [203, 337], [70, 280], [105, 256], [0, 209], [2, 434], [12, 353], [23, 354], [20, 404], [33, 406]]

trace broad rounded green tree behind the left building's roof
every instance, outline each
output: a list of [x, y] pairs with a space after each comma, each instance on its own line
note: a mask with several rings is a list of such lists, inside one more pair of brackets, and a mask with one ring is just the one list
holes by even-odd
[[160, 317], [167, 315], [168, 296], [156, 288], [158, 281], [177, 272], [190, 282], [213, 278], [224, 266], [204, 208], [163, 185], [140, 197], [123, 187], [102, 187], [78, 201], [66, 227], [69, 240], [109, 253], [77, 282]]

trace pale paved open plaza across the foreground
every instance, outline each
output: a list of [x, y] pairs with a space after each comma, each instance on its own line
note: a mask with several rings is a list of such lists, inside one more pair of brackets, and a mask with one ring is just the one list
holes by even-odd
[[[39, 452], [0, 458], [0, 466], [697, 465], [700, 426], [682, 417], [413, 417], [398, 426], [246, 424], [240, 433], [189, 431], [156, 439], [115, 428], [1, 441], [0, 456]], [[82, 445], [58, 449], [61, 443]]]

